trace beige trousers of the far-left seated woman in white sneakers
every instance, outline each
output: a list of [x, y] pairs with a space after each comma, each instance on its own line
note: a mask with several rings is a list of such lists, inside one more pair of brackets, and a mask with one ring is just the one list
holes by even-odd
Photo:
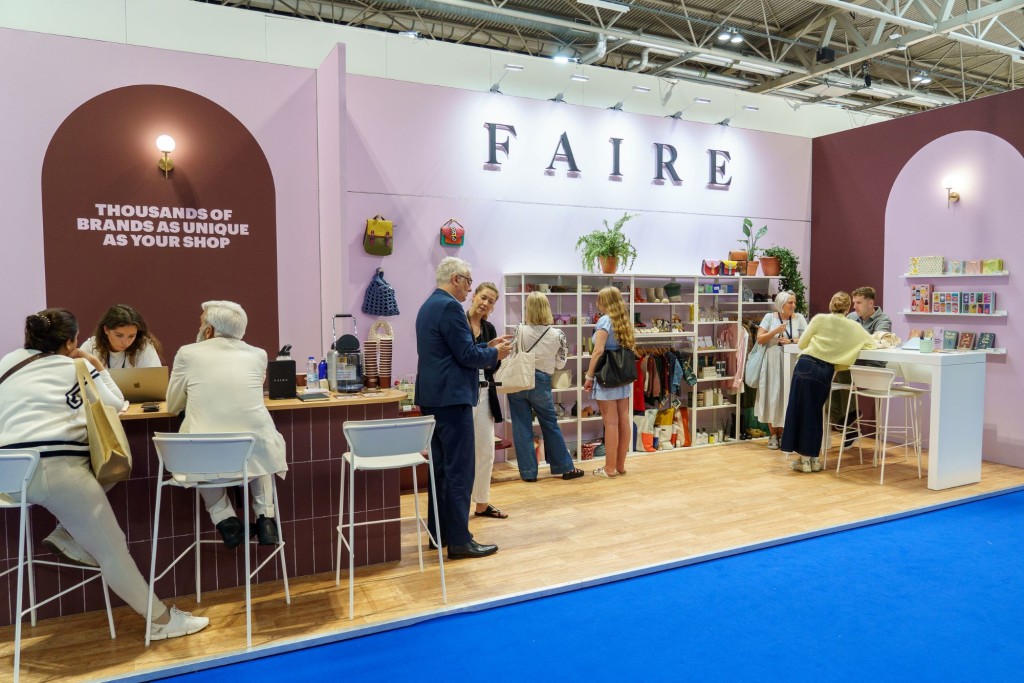
[[[145, 615], [148, 586], [128, 554], [124, 531], [114, 517], [106, 494], [92, 475], [88, 458], [40, 458], [29, 483], [29, 502], [49, 510], [72, 538], [96, 558], [111, 590]], [[166, 611], [162, 602], [154, 602], [155, 620]]]

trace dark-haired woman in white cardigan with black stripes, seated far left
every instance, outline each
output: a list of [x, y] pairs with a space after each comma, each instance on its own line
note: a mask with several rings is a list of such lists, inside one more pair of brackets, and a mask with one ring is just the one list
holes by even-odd
[[[63, 308], [47, 308], [25, 322], [25, 348], [0, 359], [0, 449], [34, 449], [40, 460], [29, 483], [29, 503], [41, 505], [67, 525], [95, 561], [108, 586], [145, 614], [148, 586], [128, 554], [124, 531], [89, 465], [89, 436], [75, 359], [92, 377], [109, 376], [103, 362], [78, 348], [78, 322]], [[96, 383], [99, 399], [122, 400]], [[155, 605], [152, 638], [176, 638], [210, 623], [164, 603]]]

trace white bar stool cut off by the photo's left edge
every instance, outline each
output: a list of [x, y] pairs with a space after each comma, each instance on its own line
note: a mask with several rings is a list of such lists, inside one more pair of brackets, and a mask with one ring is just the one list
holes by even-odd
[[[111, 639], [117, 637], [114, 630], [114, 612], [111, 610], [111, 595], [106, 589], [106, 581], [103, 579], [99, 567], [82, 566], [79, 564], [69, 564], [67, 562], [51, 562], [49, 560], [32, 559], [32, 519], [29, 510], [32, 504], [29, 499], [29, 482], [36, 473], [36, 466], [39, 464], [39, 452], [32, 449], [9, 449], [0, 450], [0, 509], [18, 510], [17, 527], [17, 564], [0, 572], [0, 577], [6, 577], [11, 571], [17, 571], [17, 597], [14, 599], [14, 683], [17, 683], [22, 669], [22, 620], [26, 614], [31, 614], [32, 626], [36, 626], [36, 608], [52, 602], [66, 593], [77, 591], [86, 584], [99, 580], [103, 585], [103, 600], [106, 602], [106, 623], [111, 629]], [[36, 601], [36, 578], [35, 565], [45, 564], [55, 567], [68, 567], [71, 569], [82, 569], [92, 573], [85, 581], [81, 581], [74, 586], [66, 588], [56, 595], [45, 600]], [[28, 568], [28, 572], [26, 572]], [[25, 577], [29, 578], [29, 606], [23, 609], [25, 603]]]

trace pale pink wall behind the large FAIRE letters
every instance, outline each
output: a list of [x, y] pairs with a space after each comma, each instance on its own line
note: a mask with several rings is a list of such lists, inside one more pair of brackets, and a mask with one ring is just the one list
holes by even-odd
[[[702, 258], [738, 247], [744, 216], [769, 225], [762, 246], [791, 247], [807, 262], [810, 140], [368, 77], [349, 77], [348, 87], [347, 310], [358, 311], [383, 267], [401, 309], [389, 319], [396, 378], [415, 372], [416, 312], [444, 256], [470, 261], [474, 281], [499, 286], [505, 272], [578, 272], [577, 239], [628, 211], [639, 214], [626, 226], [640, 253], [634, 272], [696, 272]], [[483, 168], [486, 122], [516, 128], [500, 171]], [[564, 164], [544, 173], [563, 132], [579, 177]], [[499, 141], [508, 137], [499, 131]], [[608, 179], [611, 137], [624, 139], [621, 181]], [[677, 148], [680, 186], [651, 182], [655, 141]], [[706, 187], [708, 148], [731, 153], [729, 191]], [[396, 222], [391, 256], [362, 251], [366, 219], [377, 213]], [[462, 249], [438, 245], [453, 217], [466, 227]], [[371, 322], [359, 316], [360, 336]]]

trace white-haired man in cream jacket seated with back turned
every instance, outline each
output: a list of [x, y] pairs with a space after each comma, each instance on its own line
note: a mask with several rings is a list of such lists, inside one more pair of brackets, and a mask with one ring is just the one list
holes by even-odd
[[273, 484], [288, 471], [285, 438], [273, 426], [263, 403], [266, 352], [242, 341], [249, 318], [233, 301], [207, 301], [200, 316], [195, 344], [182, 346], [174, 357], [167, 386], [167, 410], [185, 411], [181, 433], [252, 432], [256, 445], [249, 474], [260, 475], [250, 484], [255, 528], [243, 528], [226, 488], [201, 488], [206, 509], [224, 545], [234, 548], [256, 533], [261, 546], [278, 543], [273, 519]]

